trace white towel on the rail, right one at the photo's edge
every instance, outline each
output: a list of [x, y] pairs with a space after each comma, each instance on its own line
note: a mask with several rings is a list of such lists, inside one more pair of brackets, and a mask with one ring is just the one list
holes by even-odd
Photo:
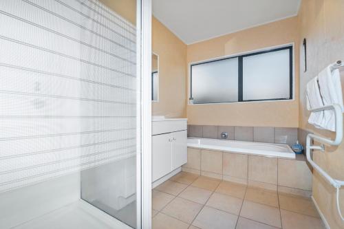
[[[323, 105], [326, 106], [336, 103], [341, 107], [343, 112], [343, 94], [339, 69], [331, 71], [330, 66], [327, 66], [319, 73], [318, 79], [320, 94], [323, 98]], [[334, 110], [324, 111], [322, 127], [323, 129], [336, 131], [336, 117], [334, 115]]]

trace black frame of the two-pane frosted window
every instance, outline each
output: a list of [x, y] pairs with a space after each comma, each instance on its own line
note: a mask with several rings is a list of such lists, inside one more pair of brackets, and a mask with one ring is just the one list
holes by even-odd
[[[212, 61], [204, 61], [204, 62], [200, 62], [200, 63], [193, 63], [190, 65], [190, 100], [193, 99], [193, 95], [192, 95], [192, 87], [193, 87], [193, 74], [192, 74], [192, 69], [193, 66], [195, 65], [202, 65], [205, 63], [213, 63], [216, 61], [224, 61], [224, 60], [228, 60], [231, 58], [238, 58], [238, 100], [235, 102], [259, 102], [259, 101], [276, 101], [276, 100], [293, 100], [293, 88], [294, 88], [294, 80], [293, 80], [293, 75], [294, 75], [294, 58], [293, 58], [293, 50], [294, 49], [294, 45], [288, 45], [285, 47], [277, 47], [277, 48], [272, 48], [269, 50], [263, 50], [263, 51], [259, 51], [259, 52], [251, 52], [248, 54], [242, 54], [242, 55], [237, 55], [237, 56], [230, 56], [230, 57], [226, 57], [226, 58], [219, 58], [216, 60], [212, 60]], [[244, 69], [243, 69], [243, 59], [247, 56], [255, 56], [255, 55], [259, 55], [259, 54], [266, 54], [269, 52], [278, 52], [281, 50], [289, 50], [289, 98], [270, 98], [270, 99], [258, 99], [258, 100], [244, 100], [243, 99], [243, 89], [244, 89], [244, 85], [243, 85], [243, 75], [244, 75]], [[232, 102], [199, 102], [199, 103], [193, 103], [195, 105], [202, 105], [202, 104], [217, 104], [217, 103], [232, 103]]]

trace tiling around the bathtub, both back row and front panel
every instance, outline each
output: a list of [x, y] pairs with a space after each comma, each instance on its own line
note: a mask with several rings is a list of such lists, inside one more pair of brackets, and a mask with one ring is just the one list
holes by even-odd
[[[188, 135], [197, 138], [218, 138], [227, 132], [227, 140], [305, 145], [308, 131], [281, 127], [223, 127], [189, 125]], [[310, 196], [312, 170], [304, 155], [296, 160], [261, 157], [240, 153], [188, 149], [188, 162], [183, 171], [224, 179], [231, 182], [259, 186], [281, 193]]]

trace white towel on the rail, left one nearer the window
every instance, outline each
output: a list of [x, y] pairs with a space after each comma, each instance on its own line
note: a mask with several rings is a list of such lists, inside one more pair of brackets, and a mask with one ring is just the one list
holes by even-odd
[[[317, 76], [312, 78], [312, 80], [310, 80], [310, 82], [307, 83], [306, 97], [308, 109], [323, 107], [323, 100], [321, 98]], [[308, 122], [310, 124], [313, 124], [316, 128], [323, 129], [323, 117], [324, 111], [312, 112], [310, 113], [310, 118], [308, 118]]]

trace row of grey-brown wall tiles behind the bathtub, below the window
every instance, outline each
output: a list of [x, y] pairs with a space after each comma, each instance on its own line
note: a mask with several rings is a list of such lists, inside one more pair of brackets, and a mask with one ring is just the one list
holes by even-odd
[[188, 125], [188, 137], [217, 138], [227, 132], [226, 140], [281, 143], [292, 146], [297, 141], [298, 129], [288, 127], [232, 127]]

